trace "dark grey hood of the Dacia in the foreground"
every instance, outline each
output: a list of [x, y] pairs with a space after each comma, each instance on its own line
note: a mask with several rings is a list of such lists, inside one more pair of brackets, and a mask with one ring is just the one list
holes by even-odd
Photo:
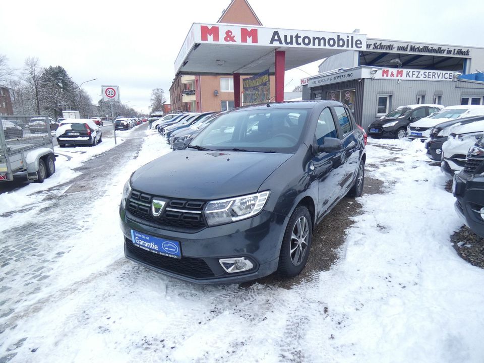
[[181, 199], [220, 199], [255, 193], [292, 154], [180, 150], [139, 168], [132, 188]]

